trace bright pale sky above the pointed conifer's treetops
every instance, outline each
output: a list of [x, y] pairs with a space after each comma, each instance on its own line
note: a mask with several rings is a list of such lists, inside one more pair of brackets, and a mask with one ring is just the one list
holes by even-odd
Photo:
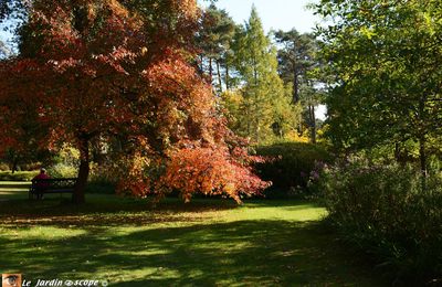
[[[198, 0], [202, 6], [210, 2]], [[255, 4], [264, 29], [288, 31], [295, 28], [298, 32], [312, 32], [318, 18], [306, 9], [314, 0], [218, 0], [217, 7], [225, 9], [236, 23], [249, 19], [252, 4]]]

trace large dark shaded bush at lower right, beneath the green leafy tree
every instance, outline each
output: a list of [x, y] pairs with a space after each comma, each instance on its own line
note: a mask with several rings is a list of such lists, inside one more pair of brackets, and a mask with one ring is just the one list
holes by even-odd
[[327, 168], [319, 189], [346, 238], [381, 259], [403, 283], [442, 277], [442, 176], [352, 160]]

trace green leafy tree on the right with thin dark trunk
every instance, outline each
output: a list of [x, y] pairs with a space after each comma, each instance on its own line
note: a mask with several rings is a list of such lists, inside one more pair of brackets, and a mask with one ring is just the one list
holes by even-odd
[[[442, 3], [323, 0], [316, 12], [324, 57], [336, 75], [327, 97], [329, 137], [336, 147], [419, 146], [428, 172], [431, 145], [441, 146]], [[424, 178], [424, 177], [423, 177]]]

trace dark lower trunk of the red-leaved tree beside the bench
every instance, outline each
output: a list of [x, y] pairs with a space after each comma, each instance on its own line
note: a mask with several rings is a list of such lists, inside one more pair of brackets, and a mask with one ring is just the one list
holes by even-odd
[[80, 169], [78, 178], [72, 194], [72, 202], [81, 204], [85, 202], [85, 189], [87, 184], [87, 178], [90, 176], [90, 141], [87, 138], [80, 140]]

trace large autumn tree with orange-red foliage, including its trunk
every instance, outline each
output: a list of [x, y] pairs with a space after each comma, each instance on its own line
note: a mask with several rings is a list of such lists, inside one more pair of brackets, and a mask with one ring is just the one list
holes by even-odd
[[[223, 193], [240, 202], [267, 185], [246, 146], [225, 127], [198, 74], [194, 0], [34, 0], [20, 55], [0, 64], [0, 125], [20, 141], [19, 102], [49, 128], [46, 142], [81, 153], [73, 201], [84, 202], [90, 146], [117, 138], [120, 191]], [[239, 152], [240, 151], [240, 152]]]

